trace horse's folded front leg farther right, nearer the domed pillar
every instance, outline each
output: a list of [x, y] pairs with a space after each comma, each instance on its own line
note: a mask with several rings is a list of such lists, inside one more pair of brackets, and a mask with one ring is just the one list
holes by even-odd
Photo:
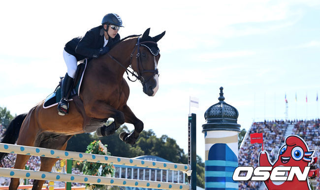
[[143, 123], [140, 119], [138, 119], [131, 109], [126, 105], [121, 109], [121, 111], [125, 114], [125, 122], [131, 123], [134, 125], [134, 131], [130, 133], [122, 132], [119, 137], [121, 140], [125, 141], [129, 144], [134, 144], [140, 133], [143, 130]]

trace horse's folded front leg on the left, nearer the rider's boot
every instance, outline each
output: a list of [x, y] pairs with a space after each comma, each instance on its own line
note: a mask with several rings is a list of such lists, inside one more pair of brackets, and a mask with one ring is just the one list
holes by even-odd
[[[109, 136], [116, 132], [119, 127], [125, 123], [125, 116], [124, 113], [113, 108], [112, 106], [106, 104], [97, 104], [96, 106], [92, 107], [92, 111], [96, 112], [99, 118], [114, 118], [114, 121], [108, 125], [103, 125], [102, 127], [96, 130], [97, 136]], [[97, 117], [97, 116], [95, 116]]]

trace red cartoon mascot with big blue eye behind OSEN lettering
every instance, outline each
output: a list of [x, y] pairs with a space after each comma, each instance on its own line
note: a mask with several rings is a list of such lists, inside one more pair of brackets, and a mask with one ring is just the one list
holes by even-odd
[[[286, 144], [279, 151], [278, 160], [271, 163], [269, 154], [261, 151], [259, 154], [259, 166], [299, 166], [303, 172], [306, 166], [312, 162], [313, 150], [309, 150], [307, 143], [296, 135], [287, 136]], [[270, 178], [264, 181], [268, 190], [311, 190], [309, 180], [298, 181], [294, 176], [292, 181], [271, 181]]]

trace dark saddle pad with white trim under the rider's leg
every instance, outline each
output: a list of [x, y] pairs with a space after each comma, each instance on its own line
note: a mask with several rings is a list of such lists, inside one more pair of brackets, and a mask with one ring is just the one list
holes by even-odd
[[[68, 101], [72, 101], [73, 100], [72, 97], [75, 95], [79, 96], [80, 87], [81, 87], [81, 83], [82, 83], [82, 79], [83, 79], [83, 75], [85, 73], [86, 67], [87, 67], [87, 59], [85, 59], [85, 61], [83, 63], [80, 63], [77, 67], [77, 71], [74, 78], [74, 84], [73, 84], [74, 88], [71, 90], [71, 93], [68, 97]], [[60, 82], [56, 90], [52, 92], [45, 99], [43, 104], [44, 109], [51, 108], [59, 104], [61, 100], [61, 83], [62, 81]]]

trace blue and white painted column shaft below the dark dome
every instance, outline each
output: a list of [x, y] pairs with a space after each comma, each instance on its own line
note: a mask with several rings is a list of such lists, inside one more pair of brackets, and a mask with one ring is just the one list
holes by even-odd
[[237, 166], [238, 133], [205, 132], [205, 189], [238, 190], [238, 182], [232, 180]]

